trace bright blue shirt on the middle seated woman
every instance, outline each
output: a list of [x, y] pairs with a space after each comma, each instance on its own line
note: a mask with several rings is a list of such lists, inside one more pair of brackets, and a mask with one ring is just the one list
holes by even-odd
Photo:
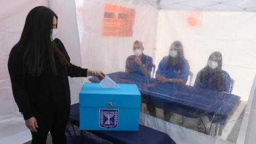
[[168, 57], [164, 57], [160, 61], [156, 74], [164, 75], [166, 78], [182, 78], [184, 83], [187, 83], [188, 75], [189, 75], [188, 61], [186, 59], [183, 60], [181, 63], [180, 70], [177, 70], [177, 65], [172, 66], [170, 69], [167, 69], [167, 60], [168, 60]]

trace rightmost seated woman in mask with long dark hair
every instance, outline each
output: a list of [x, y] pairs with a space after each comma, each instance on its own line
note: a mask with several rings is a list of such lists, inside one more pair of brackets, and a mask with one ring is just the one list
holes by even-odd
[[220, 52], [213, 52], [210, 55], [207, 65], [197, 73], [195, 86], [230, 92], [230, 76], [227, 71], [222, 70], [222, 55]]

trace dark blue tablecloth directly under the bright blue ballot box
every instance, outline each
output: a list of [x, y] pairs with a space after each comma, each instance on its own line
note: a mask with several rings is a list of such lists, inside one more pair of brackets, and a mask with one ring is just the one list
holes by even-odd
[[[79, 126], [79, 103], [71, 105], [69, 122]], [[175, 144], [166, 133], [139, 125], [139, 131], [89, 131], [114, 143]]]

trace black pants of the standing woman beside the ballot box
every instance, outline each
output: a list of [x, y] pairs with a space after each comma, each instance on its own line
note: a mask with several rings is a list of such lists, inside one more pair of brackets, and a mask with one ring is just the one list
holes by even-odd
[[70, 108], [56, 111], [52, 114], [35, 114], [38, 124], [37, 132], [32, 132], [31, 144], [45, 144], [49, 131], [53, 144], [66, 144], [66, 126], [69, 119]]

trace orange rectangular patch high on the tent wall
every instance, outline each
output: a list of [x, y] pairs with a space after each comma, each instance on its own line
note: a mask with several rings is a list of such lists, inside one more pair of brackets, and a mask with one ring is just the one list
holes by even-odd
[[135, 10], [113, 4], [105, 5], [102, 36], [131, 37]]

